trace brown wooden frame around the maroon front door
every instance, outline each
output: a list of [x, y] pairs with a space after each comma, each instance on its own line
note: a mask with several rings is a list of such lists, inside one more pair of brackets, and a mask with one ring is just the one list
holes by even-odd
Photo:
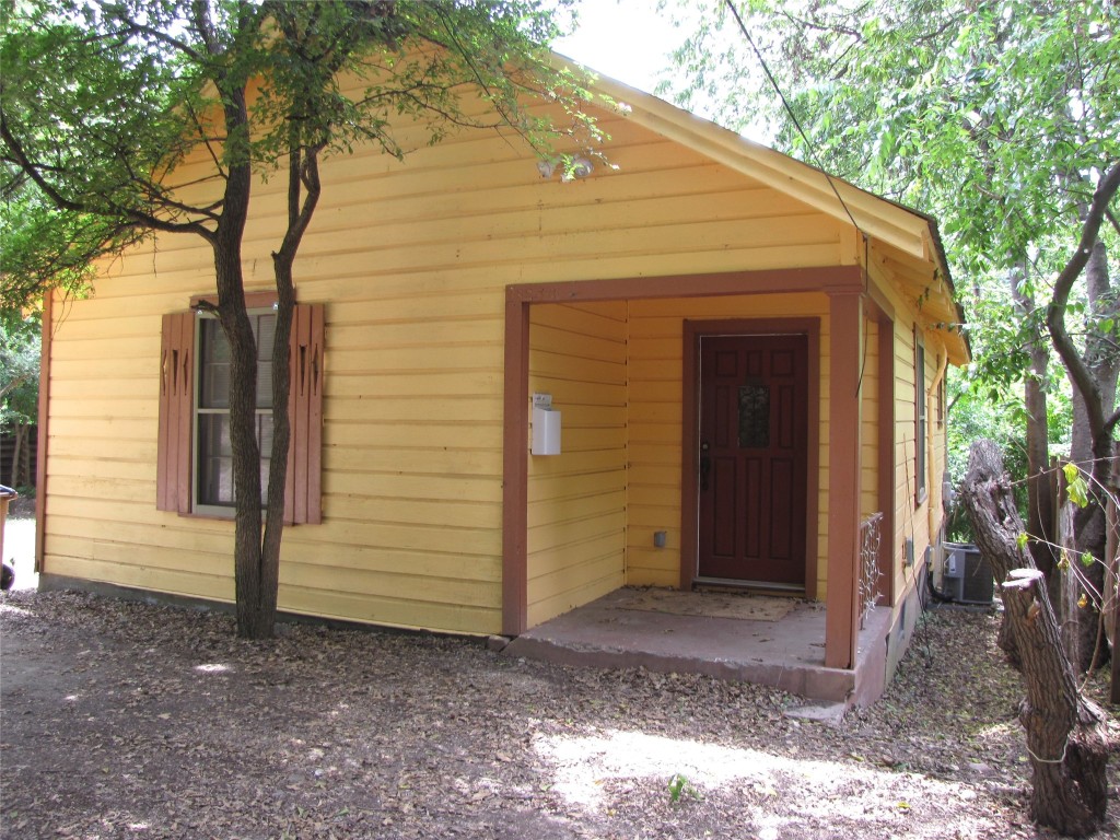
[[805, 464], [805, 598], [816, 599], [820, 500], [821, 321], [819, 318], [736, 318], [683, 324], [681, 370], [681, 589], [690, 590], [700, 560], [700, 339], [715, 336], [804, 335], [808, 342]]

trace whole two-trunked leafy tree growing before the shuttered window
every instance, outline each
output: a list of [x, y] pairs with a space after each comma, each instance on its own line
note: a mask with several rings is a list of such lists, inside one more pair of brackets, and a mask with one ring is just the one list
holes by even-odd
[[[232, 352], [239, 634], [267, 637], [276, 616], [293, 271], [321, 193], [320, 159], [358, 142], [403, 158], [409, 148], [393, 132], [401, 116], [427, 127], [421, 144], [467, 128], [506, 131], [542, 153], [561, 132], [594, 142], [594, 123], [575, 106], [585, 92], [541, 50], [558, 34], [554, 8], [538, 0], [4, 4], [3, 188], [34, 187], [32, 206], [49, 208], [27, 220], [40, 235], [13, 243], [16, 292], [73, 281], [90, 256], [156, 234], [198, 236], [213, 251], [217, 300], [204, 307]], [[534, 96], [568, 109], [571, 122], [554, 127], [529, 108]], [[209, 160], [212, 174], [187, 185], [176, 174], [190, 157]], [[262, 493], [241, 246], [254, 180], [273, 170], [287, 175], [288, 214], [273, 252], [273, 435]], [[83, 235], [68, 239], [74, 232]]]

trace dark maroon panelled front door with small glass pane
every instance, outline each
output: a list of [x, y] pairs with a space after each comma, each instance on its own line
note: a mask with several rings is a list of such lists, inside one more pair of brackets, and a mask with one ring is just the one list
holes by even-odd
[[700, 337], [701, 578], [805, 585], [809, 339]]

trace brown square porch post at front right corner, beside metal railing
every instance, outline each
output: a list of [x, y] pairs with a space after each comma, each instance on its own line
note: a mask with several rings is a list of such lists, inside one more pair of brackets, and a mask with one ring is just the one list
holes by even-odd
[[860, 292], [829, 295], [829, 538], [825, 668], [855, 668], [859, 636]]

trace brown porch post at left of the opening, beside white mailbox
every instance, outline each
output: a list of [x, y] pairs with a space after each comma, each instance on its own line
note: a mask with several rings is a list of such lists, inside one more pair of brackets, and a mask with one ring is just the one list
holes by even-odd
[[529, 623], [529, 302], [506, 288], [502, 461], [502, 633]]

